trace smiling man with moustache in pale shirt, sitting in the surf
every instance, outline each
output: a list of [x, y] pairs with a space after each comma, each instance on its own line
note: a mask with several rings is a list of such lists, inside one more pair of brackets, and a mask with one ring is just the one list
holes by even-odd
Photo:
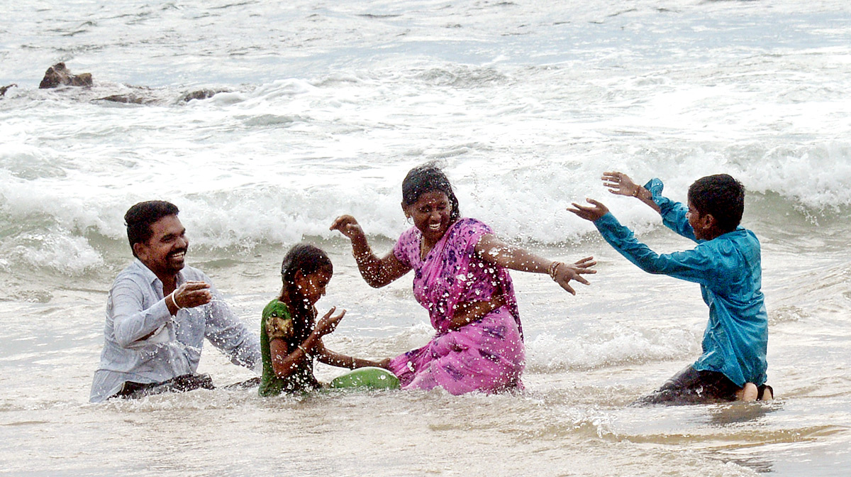
[[89, 400], [213, 388], [196, 373], [206, 337], [237, 365], [260, 365], [260, 342], [210, 279], [185, 263], [189, 240], [174, 204], [135, 204], [124, 216], [136, 260], [106, 302], [104, 348]]

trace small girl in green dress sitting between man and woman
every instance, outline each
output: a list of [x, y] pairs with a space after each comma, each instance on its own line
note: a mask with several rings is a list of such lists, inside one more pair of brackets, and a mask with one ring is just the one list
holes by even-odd
[[[263, 377], [260, 395], [273, 396], [282, 392], [309, 391], [322, 388], [313, 376], [313, 359], [327, 365], [356, 369], [386, 367], [386, 361], [376, 362], [334, 353], [325, 348], [322, 337], [337, 327], [346, 310], [334, 315], [335, 307], [317, 322], [316, 302], [325, 295], [325, 287], [334, 274], [334, 267], [325, 252], [310, 244], [297, 244], [283, 258], [280, 296], [263, 309], [260, 320], [260, 351], [263, 354]], [[389, 371], [355, 371], [332, 382], [337, 387], [365, 385], [370, 388], [394, 388], [396, 376]]]

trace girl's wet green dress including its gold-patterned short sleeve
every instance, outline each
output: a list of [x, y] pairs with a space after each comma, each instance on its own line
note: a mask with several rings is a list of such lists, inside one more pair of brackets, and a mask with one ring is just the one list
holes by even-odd
[[304, 359], [287, 378], [278, 377], [271, 365], [271, 340], [281, 339], [287, 344], [287, 353], [293, 353], [307, 339], [309, 329], [300, 330], [294, 323], [289, 307], [277, 299], [263, 308], [260, 319], [260, 353], [263, 356], [263, 376], [260, 378], [261, 396], [275, 396], [283, 392], [308, 391], [321, 388], [313, 376], [313, 359]]

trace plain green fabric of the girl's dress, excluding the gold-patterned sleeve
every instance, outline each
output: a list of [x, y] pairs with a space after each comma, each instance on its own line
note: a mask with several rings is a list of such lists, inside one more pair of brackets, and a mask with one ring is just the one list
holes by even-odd
[[[289, 308], [286, 303], [279, 302], [277, 298], [269, 302], [263, 308], [263, 318], [260, 319], [260, 353], [263, 356], [263, 376], [260, 378], [260, 389], [258, 393], [261, 396], [277, 396], [283, 392], [292, 393], [295, 391], [305, 391], [314, 388], [319, 388], [320, 384], [316, 377], [313, 376], [313, 359], [305, 359], [298, 366], [295, 372], [288, 378], [278, 377], [271, 365], [271, 350], [269, 348], [269, 336], [266, 333], [266, 321], [270, 317], [282, 317], [283, 319], [292, 320], [292, 315], [289, 313]], [[298, 327], [296, 327], [297, 329]], [[299, 333], [287, 341], [287, 353], [292, 353], [301, 342], [306, 339], [306, 336], [300, 336]]]

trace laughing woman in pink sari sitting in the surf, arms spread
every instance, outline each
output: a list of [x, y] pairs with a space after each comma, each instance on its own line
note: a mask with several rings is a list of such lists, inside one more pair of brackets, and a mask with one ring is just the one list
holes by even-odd
[[462, 218], [443, 171], [426, 164], [402, 184], [402, 209], [414, 222], [391, 253], [375, 256], [352, 216], [331, 225], [351, 239], [357, 267], [378, 288], [414, 270], [414, 296], [437, 334], [423, 348], [390, 359], [387, 368], [404, 389], [442, 387], [451, 394], [523, 388], [523, 328], [508, 268], [549, 273], [564, 290], [588, 284], [592, 257], [573, 265], [549, 261], [505, 244], [481, 221]]

